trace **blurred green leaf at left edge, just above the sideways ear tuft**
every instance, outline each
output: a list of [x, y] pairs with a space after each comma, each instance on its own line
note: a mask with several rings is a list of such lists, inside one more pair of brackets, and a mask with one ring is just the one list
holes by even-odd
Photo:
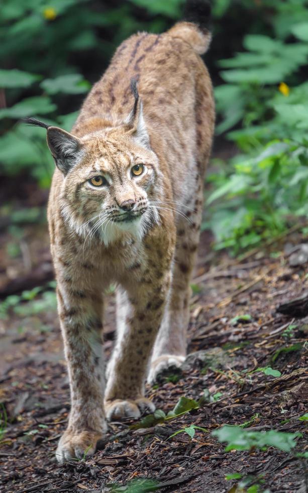
[[12, 108], [0, 110], [1, 118], [25, 118], [26, 116], [46, 115], [57, 109], [47, 96], [33, 96], [23, 99]]

